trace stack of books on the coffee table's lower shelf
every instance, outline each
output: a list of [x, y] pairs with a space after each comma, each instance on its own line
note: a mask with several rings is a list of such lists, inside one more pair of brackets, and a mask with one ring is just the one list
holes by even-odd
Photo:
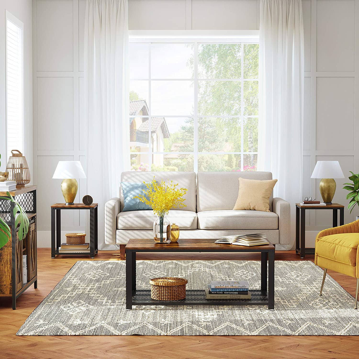
[[246, 280], [211, 281], [206, 289], [206, 299], [251, 299], [249, 284]]

